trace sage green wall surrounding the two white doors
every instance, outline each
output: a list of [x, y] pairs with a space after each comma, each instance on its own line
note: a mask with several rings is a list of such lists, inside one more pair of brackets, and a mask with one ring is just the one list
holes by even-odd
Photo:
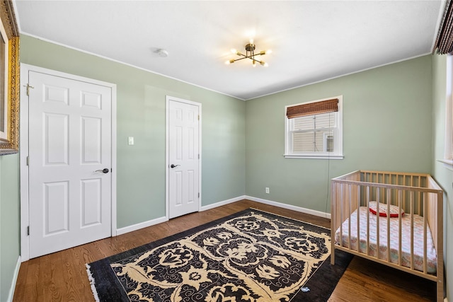
[[166, 95], [202, 103], [202, 205], [245, 194], [242, 100], [26, 35], [21, 62], [117, 85], [118, 228], [165, 216]]

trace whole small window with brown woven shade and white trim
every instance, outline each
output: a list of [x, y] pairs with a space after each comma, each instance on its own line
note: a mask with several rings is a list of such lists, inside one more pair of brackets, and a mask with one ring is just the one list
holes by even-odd
[[285, 107], [286, 158], [343, 158], [343, 96]]

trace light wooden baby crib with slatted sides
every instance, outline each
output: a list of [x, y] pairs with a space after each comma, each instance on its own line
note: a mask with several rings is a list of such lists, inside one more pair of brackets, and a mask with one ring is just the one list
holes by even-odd
[[428, 174], [357, 170], [331, 183], [335, 249], [437, 282], [444, 297], [443, 192]]

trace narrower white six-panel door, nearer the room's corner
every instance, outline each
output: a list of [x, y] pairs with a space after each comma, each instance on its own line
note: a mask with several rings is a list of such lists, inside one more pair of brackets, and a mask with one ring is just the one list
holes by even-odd
[[199, 210], [200, 104], [167, 97], [168, 217]]

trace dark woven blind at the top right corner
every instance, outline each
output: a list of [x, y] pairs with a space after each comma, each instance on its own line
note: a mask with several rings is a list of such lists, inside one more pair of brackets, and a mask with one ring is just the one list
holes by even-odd
[[453, 4], [451, 0], [445, 2], [444, 14], [440, 22], [439, 31], [432, 52], [448, 54], [453, 51]]

